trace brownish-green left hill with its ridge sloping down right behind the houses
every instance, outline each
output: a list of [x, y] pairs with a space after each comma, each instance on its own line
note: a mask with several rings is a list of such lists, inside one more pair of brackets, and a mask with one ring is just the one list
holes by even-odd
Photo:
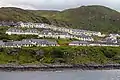
[[37, 13], [37, 11], [23, 10], [14, 7], [0, 8], [0, 21], [23, 21], [23, 22], [40, 22], [53, 24], [56, 26], [67, 26], [67, 23], [55, 19], [47, 19]]

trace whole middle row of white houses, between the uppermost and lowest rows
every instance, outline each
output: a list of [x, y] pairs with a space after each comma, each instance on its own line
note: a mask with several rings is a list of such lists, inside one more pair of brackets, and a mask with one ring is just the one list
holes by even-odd
[[67, 32], [55, 32], [51, 30], [38, 31], [37, 29], [27, 29], [25, 31], [17, 28], [10, 28], [6, 31], [6, 34], [12, 35], [38, 35], [39, 38], [63, 38], [63, 39], [78, 39], [83, 41], [94, 41], [91, 36], [81, 35], [71, 35]]

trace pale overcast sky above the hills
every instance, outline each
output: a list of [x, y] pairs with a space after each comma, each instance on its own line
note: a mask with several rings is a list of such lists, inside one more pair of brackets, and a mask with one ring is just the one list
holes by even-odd
[[120, 11], [120, 0], [0, 0], [0, 7], [64, 10], [82, 5], [104, 5]]

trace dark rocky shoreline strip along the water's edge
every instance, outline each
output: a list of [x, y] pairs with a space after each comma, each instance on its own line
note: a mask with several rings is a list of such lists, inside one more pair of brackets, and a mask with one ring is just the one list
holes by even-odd
[[120, 64], [106, 65], [0, 65], [0, 71], [61, 71], [61, 70], [113, 70], [120, 69]]

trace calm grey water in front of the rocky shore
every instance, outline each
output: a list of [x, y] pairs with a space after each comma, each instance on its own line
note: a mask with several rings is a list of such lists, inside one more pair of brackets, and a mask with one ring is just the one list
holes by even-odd
[[120, 70], [0, 72], [0, 80], [120, 80]]

